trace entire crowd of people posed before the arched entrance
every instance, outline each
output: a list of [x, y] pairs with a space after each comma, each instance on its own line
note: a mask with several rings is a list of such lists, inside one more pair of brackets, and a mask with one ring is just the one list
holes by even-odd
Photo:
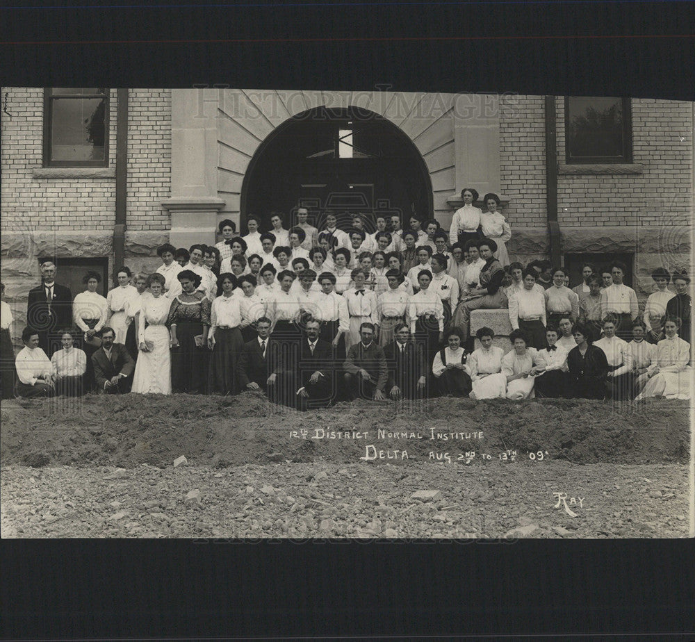
[[[272, 213], [265, 233], [253, 215], [244, 236], [224, 220], [217, 245], [162, 245], [156, 272], [124, 266], [106, 297], [87, 272], [73, 298], [47, 261], [16, 357], [1, 302], [3, 398], [256, 390], [297, 409], [357, 397], [689, 398], [687, 274], [655, 270], [643, 309], [619, 261], [587, 263], [571, 287], [565, 268], [509, 261], [497, 195], [485, 212], [475, 190], [462, 197], [448, 232], [359, 214], [340, 229], [332, 213], [317, 229], [301, 207], [288, 229]], [[508, 312], [506, 354], [487, 327], [474, 349], [480, 309]]]

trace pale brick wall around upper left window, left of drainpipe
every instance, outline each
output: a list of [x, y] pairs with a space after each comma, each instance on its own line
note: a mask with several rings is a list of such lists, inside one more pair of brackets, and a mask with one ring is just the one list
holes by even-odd
[[[2, 155], [0, 157], [2, 227], [8, 231], [113, 229], [115, 179], [46, 178], [42, 167], [42, 88], [3, 88]], [[115, 165], [116, 92], [109, 94], [109, 165]]]

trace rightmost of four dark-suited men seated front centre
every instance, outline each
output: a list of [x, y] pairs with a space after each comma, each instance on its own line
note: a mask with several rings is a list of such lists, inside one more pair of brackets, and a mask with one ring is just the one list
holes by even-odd
[[411, 340], [407, 324], [399, 323], [394, 330], [395, 341], [384, 346], [389, 379], [386, 392], [393, 400], [422, 399], [427, 389], [425, 347]]

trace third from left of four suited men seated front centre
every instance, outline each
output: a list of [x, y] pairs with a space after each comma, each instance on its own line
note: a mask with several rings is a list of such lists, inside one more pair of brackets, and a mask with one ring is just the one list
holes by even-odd
[[384, 350], [374, 343], [374, 324], [363, 323], [359, 327], [361, 340], [347, 351], [343, 363], [345, 386], [350, 399], [384, 400], [384, 388], [389, 379]]

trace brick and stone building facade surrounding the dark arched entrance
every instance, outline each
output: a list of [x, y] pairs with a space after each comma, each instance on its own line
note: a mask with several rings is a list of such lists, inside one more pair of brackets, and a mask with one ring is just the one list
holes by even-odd
[[[423, 167], [430, 213], [443, 227], [461, 204], [462, 188], [500, 195], [512, 258], [551, 255], [554, 180], [561, 261], [623, 254], [641, 299], [651, 292], [652, 268], [691, 267], [691, 103], [632, 99], [630, 162], [573, 165], [566, 163], [564, 97], [549, 103], [516, 94], [131, 89], [124, 119], [117, 90], [109, 90], [108, 164], [45, 167], [44, 90], [2, 94], [0, 268], [15, 340], [26, 321], [26, 293], [40, 280], [38, 258], [58, 260], [59, 282], [60, 270], [83, 271], [90, 260], [101, 261], [105, 274], [117, 267], [119, 122], [127, 127], [122, 256], [133, 271], [154, 270], [163, 242], [215, 241], [222, 218], [243, 230], [254, 163], [288, 124], [325, 107], [373, 116], [398, 132]], [[551, 130], [554, 158], [546, 153]]]

